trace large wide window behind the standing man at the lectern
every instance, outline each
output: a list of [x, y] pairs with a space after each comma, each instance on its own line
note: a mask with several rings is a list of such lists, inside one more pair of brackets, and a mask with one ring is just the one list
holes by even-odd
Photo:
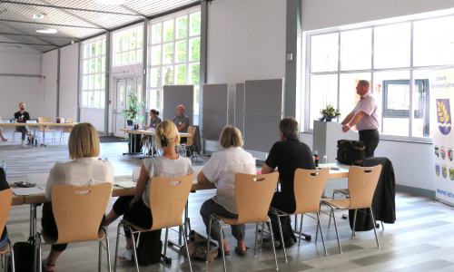
[[368, 80], [379, 108], [380, 134], [418, 141], [430, 137], [429, 77], [454, 65], [454, 15], [398, 20], [307, 33], [306, 130], [327, 104], [341, 109], [342, 121], [360, 99], [358, 81]]

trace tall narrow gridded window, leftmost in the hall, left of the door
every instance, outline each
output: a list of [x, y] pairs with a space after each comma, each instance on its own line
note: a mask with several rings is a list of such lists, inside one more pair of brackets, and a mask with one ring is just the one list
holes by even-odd
[[87, 108], [105, 106], [105, 37], [84, 42], [81, 105]]

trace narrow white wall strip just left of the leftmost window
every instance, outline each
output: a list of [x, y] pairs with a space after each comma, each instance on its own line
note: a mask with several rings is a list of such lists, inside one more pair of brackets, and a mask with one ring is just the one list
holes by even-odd
[[60, 97], [59, 115], [60, 117], [77, 118], [77, 74], [79, 63], [78, 44], [68, 45], [60, 52]]

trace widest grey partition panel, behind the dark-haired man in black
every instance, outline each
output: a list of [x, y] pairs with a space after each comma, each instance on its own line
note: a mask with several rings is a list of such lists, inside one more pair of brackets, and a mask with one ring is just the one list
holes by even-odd
[[244, 85], [244, 149], [268, 152], [279, 140], [283, 114], [283, 80], [246, 81]]

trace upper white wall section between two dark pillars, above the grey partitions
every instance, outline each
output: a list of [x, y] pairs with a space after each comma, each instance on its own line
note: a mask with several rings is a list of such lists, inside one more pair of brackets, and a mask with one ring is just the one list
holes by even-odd
[[285, 74], [286, 1], [208, 4], [207, 83], [244, 83]]

